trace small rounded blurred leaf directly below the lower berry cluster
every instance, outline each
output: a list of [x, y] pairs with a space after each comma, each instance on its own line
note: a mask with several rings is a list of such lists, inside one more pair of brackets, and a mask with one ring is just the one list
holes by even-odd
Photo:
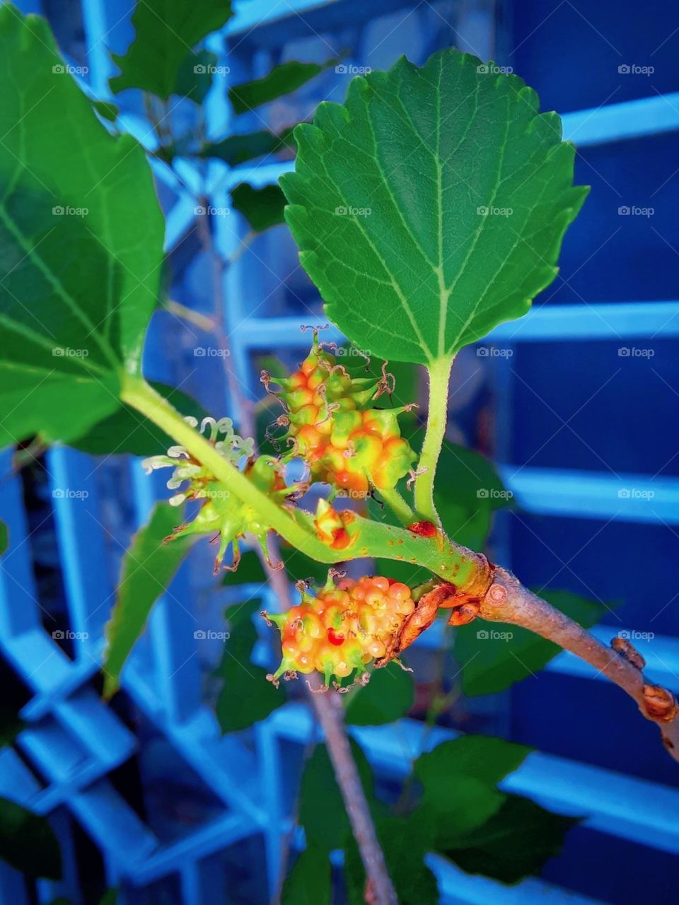
[[405, 717], [415, 703], [413, 673], [389, 663], [373, 670], [370, 681], [345, 696], [345, 721], [353, 726], [382, 726]]

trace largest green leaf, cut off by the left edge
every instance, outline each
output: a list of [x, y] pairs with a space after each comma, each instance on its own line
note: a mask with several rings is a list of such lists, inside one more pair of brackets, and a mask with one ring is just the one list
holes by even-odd
[[0, 100], [0, 446], [68, 441], [114, 411], [158, 295], [164, 225], [143, 150], [62, 69], [44, 20], [1, 7], [14, 87]]

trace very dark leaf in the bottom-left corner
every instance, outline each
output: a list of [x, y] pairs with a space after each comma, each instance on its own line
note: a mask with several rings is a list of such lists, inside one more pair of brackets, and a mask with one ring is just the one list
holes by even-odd
[[8, 798], [0, 798], [0, 859], [28, 877], [62, 877], [62, 853], [47, 818]]

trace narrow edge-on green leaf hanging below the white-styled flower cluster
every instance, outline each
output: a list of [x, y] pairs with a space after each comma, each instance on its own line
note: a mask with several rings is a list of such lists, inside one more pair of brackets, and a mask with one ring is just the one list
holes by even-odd
[[106, 624], [104, 697], [110, 698], [117, 691], [120, 671], [146, 627], [152, 606], [172, 581], [196, 539], [189, 536], [163, 543], [172, 529], [182, 524], [183, 517], [184, 507], [157, 503], [123, 558], [116, 603]]

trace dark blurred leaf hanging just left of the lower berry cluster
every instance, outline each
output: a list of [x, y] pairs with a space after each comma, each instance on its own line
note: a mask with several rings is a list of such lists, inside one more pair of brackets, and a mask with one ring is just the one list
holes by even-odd
[[217, 698], [215, 714], [222, 732], [247, 729], [265, 719], [287, 700], [282, 689], [266, 681], [267, 671], [252, 662], [257, 630], [253, 616], [262, 609], [259, 598], [234, 604], [225, 611], [225, 628], [229, 637], [224, 643], [224, 656], [216, 674], [224, 680]]

